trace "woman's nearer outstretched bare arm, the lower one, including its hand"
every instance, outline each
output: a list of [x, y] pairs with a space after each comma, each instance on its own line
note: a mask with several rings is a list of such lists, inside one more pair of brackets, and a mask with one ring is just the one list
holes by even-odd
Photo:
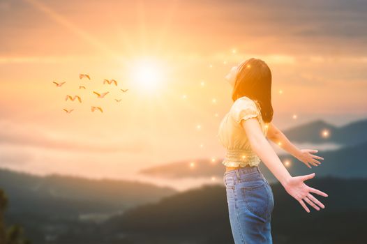
[[324, 204], [313, 197], [310, 192], [314, 192], [323, 197], [327, 197], [327, 194], [315, 188], [310, 188], [304, 183], [304, 181], [313, 178], [315, 173], [292, 177], [278, 158], [278, 155], [276, 155], [276, 152], [271, 147], [266, 137], [264, 137], [257, 118], [241, 119], [240, 123], [242, 128], [246, 131], [253, 151], [259, 156], [278, 181], [280, 181], [287, 193], [299, 201], [299, 204], [301, 204], [308, 213], [310, 213], [310, 210], [307, 208], [304, 201], [310, 204], [310, 206], [313, 206], [316, 210], [320, 210], [316, 204], [324, 208]]

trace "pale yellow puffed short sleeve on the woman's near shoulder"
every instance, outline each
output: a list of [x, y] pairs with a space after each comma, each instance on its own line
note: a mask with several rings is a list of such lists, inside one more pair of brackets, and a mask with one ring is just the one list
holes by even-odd
[[241, 123], [242, 119], [246, 120], [255, 118], [260, 114], [253, 100], [250, 100], [250, 98], [239, 98], [234, 102], [234, 105], [231, 108], [231, 115], [234, 121]]

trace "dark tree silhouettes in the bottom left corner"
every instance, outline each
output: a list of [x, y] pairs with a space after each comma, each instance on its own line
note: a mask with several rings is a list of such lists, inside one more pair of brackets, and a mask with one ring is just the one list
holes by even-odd
[[13, 224], [6, 228], [3, 215], [8, 206], [8, 198], [0, 189], [0, 243], [1, 244], [31, 244], [29, 239], [24, 238], [23, 228], [19, 224]]

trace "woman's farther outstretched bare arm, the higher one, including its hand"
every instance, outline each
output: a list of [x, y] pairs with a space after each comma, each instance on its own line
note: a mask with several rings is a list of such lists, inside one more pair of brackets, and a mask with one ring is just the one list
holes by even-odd
[[311, 168], [309, 164], [313, 166], [317, 166], [317, 164], [321, 164], [320, 161], [316, 160], [324, 160], [324, 158], [319, 157], [317, 155], [313, 155], [311, 153], [317, 153], [315, 149], [299, 149], [297, 146], [294, 146], [290, 140], [285, 137], [283, 132], [281, 132], [273, 123], [268, 123], [268, 132], [267, 138], [270, 139], [272, 142], [276, 143], [280, 148], [283, 148], [285, 151], [290, 153], [297, 158], [299, 161], [304, 162], [304, 164]]

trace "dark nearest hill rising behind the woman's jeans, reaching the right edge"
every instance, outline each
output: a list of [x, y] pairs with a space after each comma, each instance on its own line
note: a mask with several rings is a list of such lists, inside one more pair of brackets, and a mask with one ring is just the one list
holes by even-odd
[[[274, 243], [367, 243], [367, 179], [324, 177], [306, 184], [328, 193], [329, 197], [313, 194], [326, 208], [316, 211], [306, 204], [311, 211], [306, 213], [282, 185], [271, 184]], [[234, 243], [225, 188], [218, 185], [203, 185], [131, 208], [110, 218], [101, 231], [112, 239], [125, 234], [129, 242], [119, 243]]]

